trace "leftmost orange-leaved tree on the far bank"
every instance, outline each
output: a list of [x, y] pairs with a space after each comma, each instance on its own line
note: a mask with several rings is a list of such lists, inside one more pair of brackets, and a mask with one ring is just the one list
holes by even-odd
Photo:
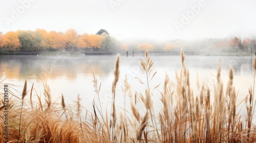
[[17, 32], [7, 32], [4, 35], [4, 47], [8, 50], [18, 50], [20, 46], [18, 33]]

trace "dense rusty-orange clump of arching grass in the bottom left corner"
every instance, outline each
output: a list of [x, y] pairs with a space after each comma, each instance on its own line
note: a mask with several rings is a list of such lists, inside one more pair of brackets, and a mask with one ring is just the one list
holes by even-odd
[[[22, 131], [18, 138], [16, 109], [10, 110], [9, 138], [2, 142], [111, 142], [108, 138], [98, 134], [89, 124], [84, 127], [84, 135], [80, 133], [76, 121], [61, 120], [56, 111], [50, 110], [49, 115], [36, 110], [24, 109]], [[3, 135], [0, 132], [1, 136]], [[97, 137], [99, 136], [99, 137]]]

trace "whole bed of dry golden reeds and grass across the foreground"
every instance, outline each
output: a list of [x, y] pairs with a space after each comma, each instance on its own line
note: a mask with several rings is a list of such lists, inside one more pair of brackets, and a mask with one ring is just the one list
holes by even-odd
[[[256, 58], [252, 62], [254, 82], [247, 95], [240, 95], [233, 85], [233, 68], [229, 69], [228, 83], [221, 79], [221, 61], [217, 69], [217, 82], [214, 89], [207, 84], [191, 82], [189, 70], [185, 66], [185, 55], [181, 51], [181, 69], [176, 71], [176, 81], [170, 81], [168, 74], [163, 79], [163, 87], [151, 87], [157, 71], [148, 52], [140, 59], [143, 75], [138, 83], [144, 88], [143, 93], [133, 91], [127, 77], [119, 81], [119, 62], [117, 55], [114, 81], [112, 84], [112, 105], [101, 107], [100, 88], [93, 74], [95, 97], [92, 103], [93, 112], [82, 110], [81, 98], [78, 95], [75, 106], [53, 102], [50, 87], [44, 84], [42, 99], [36, 94], [37, 101], [32, 101], [32, 91], [27, 89], [25, 80], [22, 98], [12, 97], [9, 100], [9, 135], [4, 138], [3, 98], [0, 103], [0, 141], [1, 142], [255, 142], [256, 127], [252, 122], [255, 117], [254, 85], [256, 76]], [[116, 94], [117, 82], [123, 82], [123, 95]], [[197, 89], [190, 84], [196, 83]], [[224, 89], [226, 84], [226, 89]], [[152, 100], [154, 90], [159, 90], [161, 105], [156, 112]], [[195, 92], [194, 92], [195, 90]], [[30, 94], [30, 95], [29, 95]], [[30, 96], [24, 107], [25, 96]], [[124, 96], [123, 110], [117, 112], [116, 96]], [[155, 96], [155, 95], [154, 95]], [[244, 96], [246, 114], [241, 115], [237, 109], [238, 96]], [[14, 99], [16, 98], [16, 100]], [[127, 98], [129, 100], [127, 100]], [[45, 101], [45, 102], [43, 102]], [[130, 101], [130, 103], [126, 103]], [[143, 112], [137, 106], [143, 105]], [[103, 113], [102, 110], [105, 112]], [[86, 115], [82, 120], [81, 113]], [[243, 119], [242, 120], [242, 116]], [[120, 119], [117, 120], [117, 117]]]

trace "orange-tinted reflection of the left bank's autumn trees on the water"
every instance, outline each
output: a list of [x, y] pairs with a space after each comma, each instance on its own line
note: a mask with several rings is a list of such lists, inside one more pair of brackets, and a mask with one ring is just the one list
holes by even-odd
[[0, 76], [17, 79], [47, 80], [66, 77], [76, 79], [77, 75], [109, 74], [114, 68], [113, 56], [87, 57], [36, 57], [0, 56]]

